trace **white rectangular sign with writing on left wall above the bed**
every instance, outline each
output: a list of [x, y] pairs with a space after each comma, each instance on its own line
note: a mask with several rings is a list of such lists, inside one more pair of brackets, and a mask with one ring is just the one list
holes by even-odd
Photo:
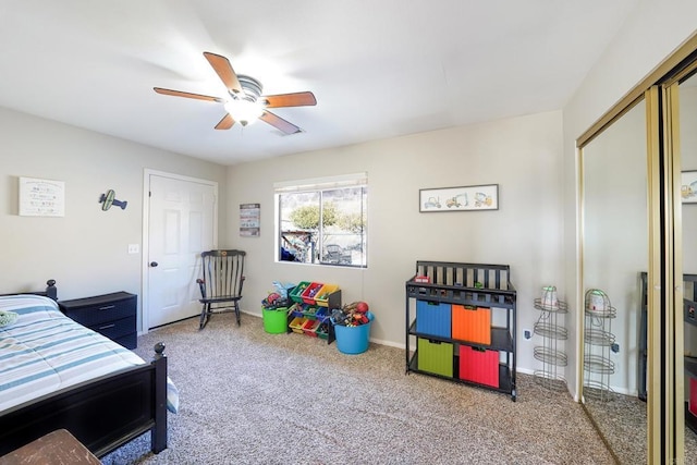
[[65, 183], [20, 178], [20, 216], [64, 217]]

